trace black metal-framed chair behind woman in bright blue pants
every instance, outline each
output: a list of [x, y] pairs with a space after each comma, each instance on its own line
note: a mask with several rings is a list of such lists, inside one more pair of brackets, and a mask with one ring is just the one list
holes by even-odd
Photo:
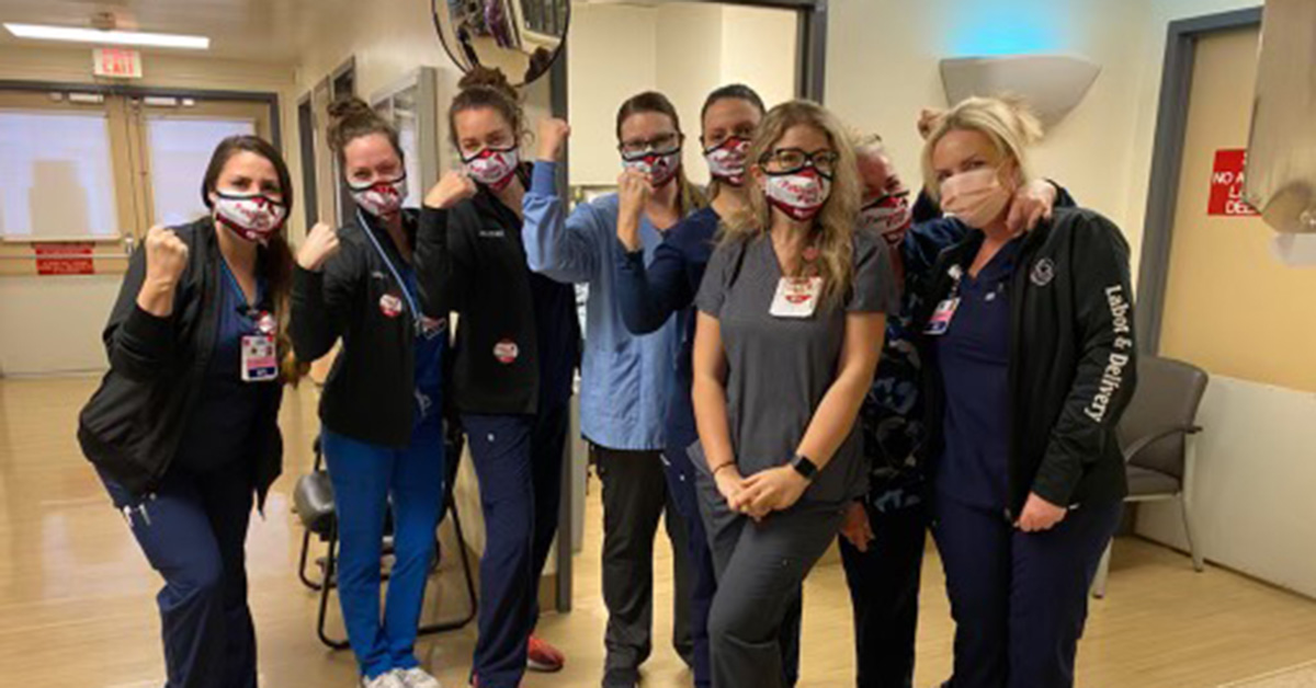
[[[449, 517], [453, 520], [453, 531], [457, 535], [457, 550], [458, 555], [462, 558], [462, 574], [466, 579], [466, 593], [468, 599], [467, 613], [453, 621], [420, 626], [417, 633], [421, 635], [461, 629], [474, 621], [478, 612], [479, 600], [475, 595], [475, 576], [471, 572], [470, 554], [466, 547], [466, 535], [462, 531], [462, 517], [457, 509], [457, 501], [453, 499], [453, 484], [457, 481], [457, 468], [461, 464], [463, 445], [465, 442], [461, 431], [450, 429], [445, 442], [446, 475], [443, 481], [443, 504]], [[316, 459], [312, 472], [297, 480], [297, 485], [292, 493], [293, 510], [296, 510], [299, 518], [301, 520], [301, 525], [305, 529], [301, 535], [301, 556], [297, 563], [297, 577], [301, 579], [301, 583], [305, 587], [320, 593], [320, 612], [318, 618], [316, 620], [316, 634], [320, 637], [320, 642], [334, 650], [343, 650], [349, 646], [347, 641], [330, 638], [325, 631], [325, 620], [329, 614], [329, 593], [337, 587], [338, 580], [338, 518], [334, 509], [333, 483], [329, 481], [329, 472], [322, 467], [324, 451], [320, 445], [320, 438], [316, 438], [313, 451]], [[386, 525], [386, 555], [392, 551], [391, 530], [391, 526]], [[318, 579], [313, 579], [307, 574], [311, 559], [309, 553], [312, 535], [328, 546], [325, 555], [317, 559], [317, 564], [320, 564], [321, 568]], [[438, 568], [438, 562], [441, 559], [442, 549], [436, 531], [434, 570]], [[386, 574], [384, 580], [387, 579], [388, 575]]]

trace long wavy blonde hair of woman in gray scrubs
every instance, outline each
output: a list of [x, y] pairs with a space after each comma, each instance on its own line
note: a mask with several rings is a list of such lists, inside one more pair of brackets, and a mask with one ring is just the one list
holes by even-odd
[[[776, 142], [795, 126], [816, 129], [828, 138], [837, 154], [836, 168], [832, 171], [832, 193], [813, 218], [813, 234], [819, 249], [822, 293], [826, 299], [838, 299], [849, 292], [854, 275], [854, 218], [859, 213], [861, 197], [859, 167], [849, 132], [817, 103], [792, 100], [772, 108], [763, 117], [749, 145], [747, 160], [751, 167], [762, 170]], [[771, 226], [772, 214], [766, 193], [750, 193], [749, 204], [724, 222], [722, 242], [749, 241], [767, 234]]]

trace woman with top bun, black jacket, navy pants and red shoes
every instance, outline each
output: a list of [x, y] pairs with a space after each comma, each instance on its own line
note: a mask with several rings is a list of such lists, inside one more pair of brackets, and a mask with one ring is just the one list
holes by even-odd
[[528, 664], [565, 663], [532, 633], [558, 525], [580, 325], [571, 285], [526, 263], [521, 201], [530, 170], [520, 162], [528, 137], [516, 91], [482, 67], [459, 87], [447, 121], [463, 167], [426, 193], [416, 260], [425, 312], [459, 314], [451, 393], [487, 529], [472, 683], [515, 688]]

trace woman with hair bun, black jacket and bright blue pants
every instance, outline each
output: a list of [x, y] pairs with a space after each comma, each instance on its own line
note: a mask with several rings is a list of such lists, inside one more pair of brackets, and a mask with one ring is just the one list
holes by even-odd
[[[420, 310], [417, 213], [403, 208], [397, 132], [354, 97], [332, 104], [329, 117], [329, 143], [357, 208], [340, 230], [316, 225], [297, 254], [292, 341], [303, 360], [342, 341], [320, 400], [342, 542], [338, 597], [362, 685], [438, 688], [413, 646], [445, 495], [447, 328]], [[390, 509], [395, 563], [380, 610]]]

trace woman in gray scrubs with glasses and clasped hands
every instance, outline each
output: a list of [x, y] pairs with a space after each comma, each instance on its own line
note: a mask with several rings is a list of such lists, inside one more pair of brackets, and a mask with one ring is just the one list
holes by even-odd
[[726, 220], [696, 299], [692, 458], [719, 576], [720, 688], [788, 684], [780, 631], [799, 625], [800, 584], [866, 489], [855, 416], [896, 308], [886, 246], [854, 229], [840, 121], [778, 105], [747, 159], [758, 192]]

